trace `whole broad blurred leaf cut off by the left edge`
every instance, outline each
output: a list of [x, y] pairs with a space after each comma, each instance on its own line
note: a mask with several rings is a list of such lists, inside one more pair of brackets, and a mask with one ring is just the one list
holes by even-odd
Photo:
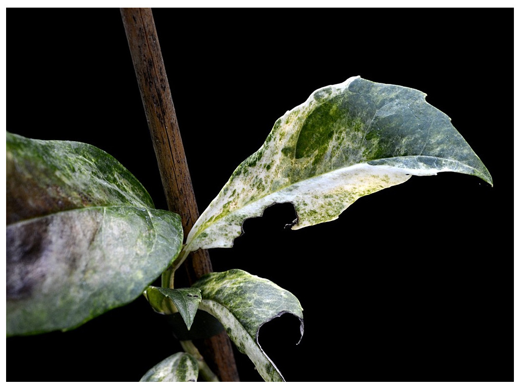
[[109, 154], [7, 133], [7, 335], [67, 330], [137, 298], [178, 255], [176, 214]]

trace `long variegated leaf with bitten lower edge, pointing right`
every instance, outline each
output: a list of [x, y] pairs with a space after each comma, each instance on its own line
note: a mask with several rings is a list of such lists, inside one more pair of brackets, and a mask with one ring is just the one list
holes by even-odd
[[186, 252], [225, 248], [244, 219], [292, 202], [293, 229], [336, 219], [359, 197], [411, 175], [458, 172], [492, 185], [491, 175], [426, 94], [351, 77], [316, 90], [276, 121], [202, 213]]

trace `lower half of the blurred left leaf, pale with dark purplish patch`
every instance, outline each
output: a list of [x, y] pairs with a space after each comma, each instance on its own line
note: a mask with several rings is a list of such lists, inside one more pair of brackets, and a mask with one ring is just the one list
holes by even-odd
[[133, 301], [180, 252], [180, 226], [175, 214], [132, 206], [9, 225], [7, 334], [72, 329]]

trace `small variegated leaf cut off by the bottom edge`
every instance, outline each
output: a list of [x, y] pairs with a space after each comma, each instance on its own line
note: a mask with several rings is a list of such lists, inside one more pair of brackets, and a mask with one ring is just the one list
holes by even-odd
[[139, 382], [197, 382], [199, 363], [190, 354], [179, 352], [153, 366]]

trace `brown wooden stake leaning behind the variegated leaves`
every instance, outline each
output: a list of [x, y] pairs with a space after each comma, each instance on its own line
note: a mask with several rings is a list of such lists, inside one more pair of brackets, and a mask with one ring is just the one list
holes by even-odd
[[[168, 209], [181, 216], [186, 238], [199, 217], [199, 211], [152, 11], [150, 8], [121, 8], [121, 16]], [[207, 251], [192, 254], [185, 264], [190, 282], [212, 271]], [[221, 381], [239, 381], [231, 342], [225, 332], [205, 340], [204, 346], [199, 346], [199, 349]]]

